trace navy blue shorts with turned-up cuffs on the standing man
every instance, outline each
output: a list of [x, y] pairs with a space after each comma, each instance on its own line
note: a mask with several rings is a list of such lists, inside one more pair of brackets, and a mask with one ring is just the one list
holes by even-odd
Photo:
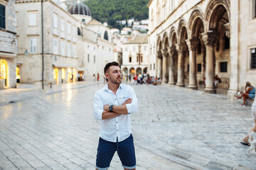
[[136, 168], [136, 157], [133, 137], [130, 135], [122, 142], [108, 142], [100, 137], [97, 148], [96, 169], [106, 170], [110, 168], [110, 162], [114, 152], [118, 153], [122, 166], [126, 169]]

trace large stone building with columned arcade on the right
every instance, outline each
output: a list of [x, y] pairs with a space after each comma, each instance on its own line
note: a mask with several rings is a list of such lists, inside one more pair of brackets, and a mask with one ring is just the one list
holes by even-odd
[[150, 74], [164, 83], [215, 93], [215, 74], [228, 97], [256, 85], [255, 0], [149, 1]]

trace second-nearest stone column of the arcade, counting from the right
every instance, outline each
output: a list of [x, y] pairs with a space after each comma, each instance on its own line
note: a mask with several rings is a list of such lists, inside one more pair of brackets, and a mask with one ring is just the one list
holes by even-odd
[[198, 48], [199, 40], [198, 38], [192, 38], [187, 40], [188, 50], [189, 50], [189, 89], [197, 90], [196, 82], [196, 50]]

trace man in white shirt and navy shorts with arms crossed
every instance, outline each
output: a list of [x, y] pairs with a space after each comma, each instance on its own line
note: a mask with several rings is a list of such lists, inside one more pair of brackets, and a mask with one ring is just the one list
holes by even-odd
[[105, 66], [108, 83], [94, 98], [94, 116], [100, 120], [100, 140], [97, 148], [96, 169], [109, 169], [117, 151], [124, 169], [136, 169], [131, 113], [136, 113], [137, 96], [131, 86], [122, 83], [122, 74], [117, 62]]

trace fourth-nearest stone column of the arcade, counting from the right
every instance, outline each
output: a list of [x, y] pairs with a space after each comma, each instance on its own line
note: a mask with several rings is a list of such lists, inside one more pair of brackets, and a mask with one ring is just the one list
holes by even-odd
[[169, 47], [169, 82], [168, 84], [174, 85], [174, 58], [176, 55], [176, 47]]

